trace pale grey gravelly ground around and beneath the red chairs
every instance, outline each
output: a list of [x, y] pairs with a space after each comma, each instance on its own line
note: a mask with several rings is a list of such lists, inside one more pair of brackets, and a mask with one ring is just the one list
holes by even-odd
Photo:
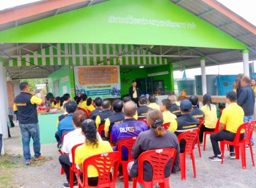
[[[17, 157], [18, 154], [22, 155], [20, 128], [15, 126], [10, 131], [11, 138], [4, 140], [5, 152], [13, 155], [12, 160], [15, 160], [15, 162], [24, 164], [24, 158]], [[224, 164], [208, 160], [208, 156], [213, 155], [209, 137], [207, 137], [205, 151], [201, 146], [202, 157], [199, 157], [198, 148], [195, 148], [194, 152], [197, 178], [193, 177], [192, 162], [187, 156], [187, 181], [181, 181], [180, 172], [172, 174], [170, 176], [170, 187], [256, 187], [256, 167], [252, 165], [248, 149], [246, 170], [241, 168], [241, 160], [230, 160], [227, 150], [225, 151]], [[255, 152], [255, 148], [253, 148], [253, 152]], [[62, 187], [63, 183], [66, 183], [65, 175], [60, 175], [61, 165], [58, 160], [59, 152], [56, 144], [42, 144], [41, 153], [46, 156], [46, 160], [34, 162], [30, 167], [26, 167], [24, 164], [24, 167], [15, 168], [12, 173], [13, 183], [11, 187], [49, 188]], [[34, 154], [32, 148], [31, 154]], [[129, 183], [129, 187], [132, 187], [132, 183]], [[123, 187], [123, 183], [117, 181], [116, 187]]]

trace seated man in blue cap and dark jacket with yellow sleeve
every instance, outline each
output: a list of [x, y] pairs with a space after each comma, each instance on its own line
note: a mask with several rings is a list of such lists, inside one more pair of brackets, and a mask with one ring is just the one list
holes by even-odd
[[[174, 120], [168, 130], [170, 132], [174, 132], [177, 136], [179, 134], [186, 132], [188, 130], [196, 129], [199, 126], [199, 122], [197, 118], [194, 118], [190, 112], [192, 110], [192, 103], [191, 101], [184, 99], [181, 101], [181, 116]], [[183, 142], [184, 141], [184, 142]], [[185, 151], [185, 140], [181, 140], [180, 143], [181, 152]]]

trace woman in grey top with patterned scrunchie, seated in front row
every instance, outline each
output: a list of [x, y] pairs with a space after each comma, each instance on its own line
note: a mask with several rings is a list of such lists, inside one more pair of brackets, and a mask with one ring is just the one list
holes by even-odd
[[[179, 141], [177, 136], [172, 132], [164, 130], [163, 128], [163, 116], [158, 109], [152, 109], [148, 113], [147, 117], [150, 130], [141, 132], [137, 137], [137, 140], [131, 151], [131, 156], [134, 158], [134, 162], [129, 162], [128, 172], [130, 177], [137, 177], [138, 175], [138, 158], [139, 155], [145, 151], [158, 149], [158, 148], [175, 148], [177, 150], [176, 158], [174, 159], [174, 166], [172, 171], [176, 173], [177, 164], [179, 164]], [[170, 164], [172, 160], [169, 160], [164, 170], [165, 177], [170, 176]], [[145, 162], [143, 164], [143, 179], [144, 181], [152, 180], [152, 167], [151, 164]]]

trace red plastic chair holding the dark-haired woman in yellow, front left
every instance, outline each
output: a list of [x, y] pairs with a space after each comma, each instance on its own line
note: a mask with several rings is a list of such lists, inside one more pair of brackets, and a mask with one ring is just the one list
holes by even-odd
[[[103, 154], [96, 154], [86, 158], [83, 162], [83, 182], [78, 178], [79, 187], [86, 188], [101, 188], [113, 187], [115, 188], [115, 181], [117, 179], [117, 171], [119, 161], [121, 160], [121, 152], [108, 152]], [[88, 167], [93, 166], [98, 171], [98, 185], [88, 185]], [[112, 179], [110, 180], [111, 169], [114, 166]]]

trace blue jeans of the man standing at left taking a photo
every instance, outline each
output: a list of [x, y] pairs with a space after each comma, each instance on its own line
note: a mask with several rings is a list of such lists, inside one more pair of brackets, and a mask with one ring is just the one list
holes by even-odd
[[38, 158], [40, 154], [40, 135], [39, 126], [37, 124], [19, 124], [22, 134], [23, 156], [26, 161], [31, 160], [30, 154], [30, 138], [33, 139], [34, 157]]

